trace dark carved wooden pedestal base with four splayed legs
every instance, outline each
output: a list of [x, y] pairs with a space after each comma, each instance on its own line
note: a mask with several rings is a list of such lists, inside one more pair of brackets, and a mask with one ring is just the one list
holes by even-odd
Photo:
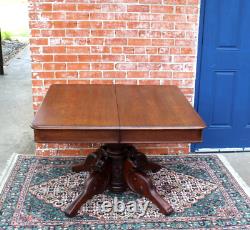
[[157, 172], [161, 166], [148, 161], [145, 154], [132, 145], [107, 144], [87, 156], [86, 160], [74, 165], [74, 172], [88, 171], [90, 175], [84, 190], [65, 210], [66, 216], [77, 215], [81, 206], [94, 195], [106, 189], [123, 192], [127, 188], [148, 198], [165, 215], [173, 212], [171, 205], [155, 190], [146, 170]]

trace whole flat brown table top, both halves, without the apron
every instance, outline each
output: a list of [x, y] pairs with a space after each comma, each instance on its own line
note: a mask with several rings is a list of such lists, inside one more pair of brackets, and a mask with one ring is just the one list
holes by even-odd
[[201, 134], [205, 124], [176, 86], [55, 84], [49, 88], [32, 128], [39, 133], [47, 130], [46, 134], [48, 130], [123, 131], [130, 139], [142, 131], [152, 135], [152, 131], [196, 130]]

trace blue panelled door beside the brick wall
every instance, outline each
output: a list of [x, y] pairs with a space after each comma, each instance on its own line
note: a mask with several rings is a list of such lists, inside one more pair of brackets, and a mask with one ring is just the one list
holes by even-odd
[[250, 0], [204, 0], [196, 108], [201, 148], [250, 147]]

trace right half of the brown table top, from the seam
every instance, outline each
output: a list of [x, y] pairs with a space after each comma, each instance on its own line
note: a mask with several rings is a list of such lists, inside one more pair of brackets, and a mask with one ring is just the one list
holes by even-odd
[[204, 123], [176, 86], [117, 85], [120, 130], [202, 129]]

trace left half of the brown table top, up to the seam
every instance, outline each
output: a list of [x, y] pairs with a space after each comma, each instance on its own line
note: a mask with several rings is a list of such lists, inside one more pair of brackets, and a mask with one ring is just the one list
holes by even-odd
[[32, 123], [34, 129], [118, 130], [113, 85], [52, 85]]

